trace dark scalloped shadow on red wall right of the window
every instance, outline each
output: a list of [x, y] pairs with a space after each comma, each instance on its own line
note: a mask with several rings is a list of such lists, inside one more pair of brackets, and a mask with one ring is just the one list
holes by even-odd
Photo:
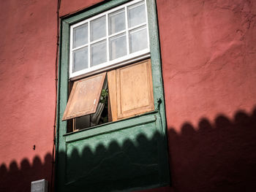
[[175, 191], [256, 191], [256, 109], [168, 128]]

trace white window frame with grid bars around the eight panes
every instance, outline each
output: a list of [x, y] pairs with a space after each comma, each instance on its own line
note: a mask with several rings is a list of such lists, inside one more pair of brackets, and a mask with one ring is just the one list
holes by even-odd
[[[118, 6], [118, 7], [115, 7], [113, 9], [110, 9], [106, 12], [102, 12], [100, 13], [99, 15], [95, 15], [94, 17], [91, 17], [89, 19], [86, 19], [86, 20], [83, 20], [83, 21], [80, 21], [79, 23], [75, 23], [74, 25], [70, 26], [70, 40], [69, 40], [69, 80], [76, 80], [78, 78], [81, 78], [81, 77], [86, 77], [86, 76], [89, 76], [91, 74], [95, 74], [95, 73], [98, 73], [98, 72], [103, 72], [103, 71], [106, 71], [108, 69], [113, 69], [114, 67], [118, 67], [118, 66], [124, 66], [126, 64], [129, 64], [129, 63], [132, 63], [132, 62], [135, 62], [135, 61], [139, 61], [143, 58], [149, 58], [150, 57], [150, 41], [149, 41], [149, 34], [148, 34], [148, 12], [147, 12], [147, 9], [145, 9], [146, 11], [146, 22], [145, 23], [140, 23], [139, 25], [136, 25], [136, 26], [133, 26], [131, 28], [128, 27], [128, 18], [127, 18], [127, 15], [128, 15], [128, 12], [127, 12], [127, 7], [129, 7], [130, 5], [132, 4], [136, 4], [138, 2], [144, 2], [145, 4], [145, 8], [147, 7], [146, 5], [146, 0], [135, 0], [135, 1], [130, 1], [126, 4], [122, 4], [121, 6]], [[123, 9], [124, 8], [124, 11], [125, 11], [125, 22], [126, 22], [126, 28], [122, 31], [118, 31], [117, 33], [115, 34], [111, 34], [109, 35], [108, 32], [109, 32], [109, 26], [108, 26], [108, 15], [112, 12], [115, 12], [119, 9]], [[91, 26], [91, 20], [94, 20], [94, 19], [97, 19], [97, 18], [100, 18], [102, 16], [106, 16], [106, 36], [105, 37], [102, 37], [102, 38], [99, 38], [97, 40], [94, 40], [91, 42], [91, 39], [90, 39], [90, 26]], [[81, 45], [79, 47], [75, 47], [73, 48], [73, 29], [78, 27], [78, 26], [81, 26], [85, 23], [88, 23], [88, 42], [86, 45]], [[147, 42], [148, 42], [148, 45], [147, 45], [147, 48], [144, 49], [144, 50], [139, 50], [135, 53], [129, 53], [129, 31], [132, 31], [133, 29], [135, 28], [140, 28], [140, 27], [143, 27], [143, 26], [146, 26], [146, 31], [147, 31]], [[116, 59], [113, 59], [112, 61], [110, 61], [110, 58], [109, 58], [109, 55], [110, 55], [110, 52], [109, 52], [109, 39], [111, 37], [116, 37], [120, 34], [126, 34], [126, 40], [127, 40], [127, 55], [124, 55], [120, 58], [116, 58]], [[103, 64], [99, 64], [97, 66], [92, 66], [88, 69], [82, 69], [78, 72], [72, 72], [72, 69], [73, 69], [73, 57], [72, 57], [72, 53], [73, 51], [75, 50], [79, 50], [80, 48], [83, 48], [83, 47], [88, 47], [88, 59], [89, 59], [89, 64], [90, 64], [90, 60], [91, 60], [91, 57], [90, 57], [90, 51], [91, 51], [91, 45], [93, 45], [94, 43], [97, 43], [97, 42], [101, 42], [102, 40], [106, 40], [106, 45], [107, 45], [107, 61]]]

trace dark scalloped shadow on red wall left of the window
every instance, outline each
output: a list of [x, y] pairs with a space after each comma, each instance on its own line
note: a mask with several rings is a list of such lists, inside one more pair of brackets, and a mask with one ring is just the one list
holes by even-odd
[[51, 186], [52, 155], [47, 153], [42, 163], [38, 156], [35, 156], [30, 164], [27, 158], [18, 164], [12, 161], [8, 167], [6, 164], [0, 166], [0, 191], [1, 192], [28, 192], [31, 191], [31, 181], [48, 180], [48, 191]]

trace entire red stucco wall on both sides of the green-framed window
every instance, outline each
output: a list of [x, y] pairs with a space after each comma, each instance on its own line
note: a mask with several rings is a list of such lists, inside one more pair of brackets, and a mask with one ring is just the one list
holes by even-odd
[[[60, 16], [99, 1], [61, 0]], [[52, 180], [57, 3], [0, 3], [0, 191]], [[255, 191], [256, 1], [157, 12], [171, 186], [150, 191]]]

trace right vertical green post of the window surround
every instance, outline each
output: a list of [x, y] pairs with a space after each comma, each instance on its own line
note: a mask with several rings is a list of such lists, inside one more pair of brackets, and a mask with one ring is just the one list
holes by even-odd
[[[168, 162], [168, 147], [167, 147], [167, 127], [165, 117], [165, 98], [162, 82], [162, 62], [160, 55], [158, 22], [157, 22], [157, 4], [156, 0], [146, 0], [148, 10], [148, 31], [150, 40], [152, 79], [154, 91], [154, 107], [159, 110], [159, 118], [161, 119], [161, 133], [164, 138], [162, 143], [162, 153], [165, 158], [162, 158], [162, 180], [170, 183], [169, 162]], [[167, 171], [166, 171], [167, 169]]]

